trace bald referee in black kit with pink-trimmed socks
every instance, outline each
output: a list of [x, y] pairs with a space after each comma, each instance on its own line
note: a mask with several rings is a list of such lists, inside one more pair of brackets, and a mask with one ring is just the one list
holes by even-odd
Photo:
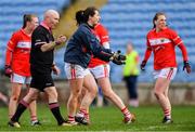
[[54, 29], [60, 21], [60, 15], [54, 10], [48, 10], [44, 13], [43, 22], [34, 30], [31, 36], [30, 51], [30, 71], [31, 82], [27, 95], [20, 102], [16, 113], [11, 118], [9, 124], [20, 128], [18, 119], [28, 105], [37, 100], [39, 92], [46, 92], [49, 98], [49, 107], [57, 120], [58, 126], [66, 126], [57, 103], [57, 92], [51, 76], [58, 75], [60, 69], [53, 63], [53, 51], [56, 45], [65, 42], [66, 37], [61, 36], [54, 40], [52, 29]]

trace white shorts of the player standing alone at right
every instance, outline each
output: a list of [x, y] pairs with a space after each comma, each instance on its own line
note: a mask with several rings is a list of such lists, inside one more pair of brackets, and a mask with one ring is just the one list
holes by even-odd
[[177, 67], [168, 67], [160, 70], [154, 70], [154, 78], [167, 78], [168, 80], [172, 80], [176, 77], [178, 68]]

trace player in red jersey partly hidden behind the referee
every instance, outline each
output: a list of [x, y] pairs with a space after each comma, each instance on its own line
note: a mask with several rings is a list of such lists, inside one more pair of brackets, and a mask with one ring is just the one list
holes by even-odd
[[[38, 17], [25, 14], [23, 28], [15, 31], [8, 42], [5, 53], [5, 76], [11, 77], [11, 96], [9, 103], [9, 118], [15, 110], [23, 84], [29, 88], [31, 80], [29, 53], [31, 48], [31, 32], [38, 26]], [[36, 102], [29, 106], [31, 126], [40, 124], [37, 119]]]

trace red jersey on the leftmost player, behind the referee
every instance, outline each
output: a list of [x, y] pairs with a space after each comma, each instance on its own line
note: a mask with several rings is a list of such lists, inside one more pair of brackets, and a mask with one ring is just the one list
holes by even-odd
[[[15, 31], [8, 42], [8, 50], [12, 51], [11, 68], [21, 76], [30, 76], [29, 53], [31, 38], [23, 29]], [[5, 58], [9, 64], [9, 60]]]

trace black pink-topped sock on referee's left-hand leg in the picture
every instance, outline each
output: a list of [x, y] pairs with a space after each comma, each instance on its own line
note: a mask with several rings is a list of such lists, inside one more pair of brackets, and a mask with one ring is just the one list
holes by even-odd
[[21, 115], [26, 110], [28, 105], [29, 105], [28, 103], [26, 103], [24, 100], [22, 100], [20, 102], [20, 104], [17, 105], [17, 109], [16, 109], [15, 114], [13, 115], [13, 117], [11, 118], [11, 120], [14, 122], [18, 122]]

